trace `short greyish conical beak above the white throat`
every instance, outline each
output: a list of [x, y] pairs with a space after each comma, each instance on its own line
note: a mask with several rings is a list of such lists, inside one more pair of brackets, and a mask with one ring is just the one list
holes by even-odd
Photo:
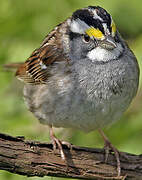
[[117, 47], [117, 44], [116, 44], [114, 38], [111, 36], [107, 36], [104, 40], [99, 41], [98, 45], [101, 48], [107, 49], [107, 50], [113, 50], [114, 48]]

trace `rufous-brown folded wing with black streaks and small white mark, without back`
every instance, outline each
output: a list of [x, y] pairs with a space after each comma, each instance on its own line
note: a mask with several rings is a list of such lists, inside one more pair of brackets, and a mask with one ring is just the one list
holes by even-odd
[[29, 59], [16, 72], [18, 79], [29, 84], [46, 83], [50, 76], [49, 67], [65, 58], [54, 46], [45, 46], [35, 50]]

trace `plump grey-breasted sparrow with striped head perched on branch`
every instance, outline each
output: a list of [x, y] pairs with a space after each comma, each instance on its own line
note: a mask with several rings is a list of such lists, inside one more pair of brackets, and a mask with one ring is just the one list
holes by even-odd
[[53, 127], [98, 130], [120, 175], [119, 152], [102, 129], [119, 120], [136, 96], [139, 66], [112, 16], [100, 6], [77, 9], [15, 67], [28, 109], [48, 125], [62, 159], [64, 141]]

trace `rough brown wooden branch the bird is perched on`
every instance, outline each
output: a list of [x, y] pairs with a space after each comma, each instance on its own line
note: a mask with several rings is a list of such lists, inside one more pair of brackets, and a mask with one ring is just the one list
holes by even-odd
[[[142, 179], [142, 156], [123, 153], [121, 177], [117, 177], [116, 159], [109, 155], [104, 163], [104, 150], [73, 146], [64, 152], [53, 152], [52, 144], [25, 141], [22, 137], [0, 134], [0, 169], [25, 176], [55, 176], [77, 179]], [[127, 157], [127, 158], [126, 158]]]

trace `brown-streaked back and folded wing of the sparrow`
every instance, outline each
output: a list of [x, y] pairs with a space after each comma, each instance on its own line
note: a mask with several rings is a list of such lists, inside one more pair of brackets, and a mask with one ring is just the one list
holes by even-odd
[[46, 37], [41, 47], [35, 50], [28, 60], [18, 68], [16, 72], [18, 79], [29, 84], [46, 83], [50, 76], [51, 65], [56, 61], [67, 61], [62, 51], [61, 35], [57, 30], [57, 28], [54, 29]]

